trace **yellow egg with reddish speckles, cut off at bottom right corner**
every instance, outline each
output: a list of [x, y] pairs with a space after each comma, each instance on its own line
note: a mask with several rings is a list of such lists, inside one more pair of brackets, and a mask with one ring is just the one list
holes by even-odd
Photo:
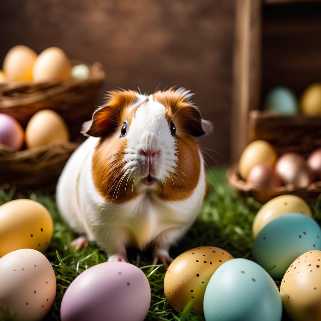
[[321, 320], [321, 251], [308, 251], [293, 261], [283, 276], [280, 294], [291, 320]]

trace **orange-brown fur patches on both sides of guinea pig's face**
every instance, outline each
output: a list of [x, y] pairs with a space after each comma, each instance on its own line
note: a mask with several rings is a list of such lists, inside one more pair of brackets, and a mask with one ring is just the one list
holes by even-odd
[[[135, 110], [128, 111], [134, 101], [134, 91], [112, 91], [109, 93], [108, 117], [94, 122], [99, 128], [108, 127], [108, 121], [116, 128], [121, 127], [124, 119], [128, 119], [128, 128]], [[154, 93], [153, 98], [165, 107], [165, 117], [173, 121], [177, 128], [176, 156], [178, 158], [174, 173], [165, 182], [160, 183], [158, 197], [164, 201], [178, 201], [188, 198], [199, 181], [201, 159], [199, 144], [195, 136], [202, 133], [201, 117], [197, 107], [191, 106], [184, 97], [169, 89]], [[138, 107], [137, 107], [138, 108]], [[195, 111], [195, 112], [194, 112]], [[100, 125], [99, 125], [100, 124]], [[119, 131], [115, 127], [102, 136], [92, 159], [92, 176], [95, 187], [100, 194], [113, 203], [123, 203], [135, 197], [133, 181], [123, 177], [123, 156], [127, 139], [119, 140]], [[102, 161], [105, 160], [105, 161]]]

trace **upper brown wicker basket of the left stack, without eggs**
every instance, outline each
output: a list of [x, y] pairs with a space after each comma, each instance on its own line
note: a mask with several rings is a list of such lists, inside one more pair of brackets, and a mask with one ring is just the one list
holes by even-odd
[[[73, 65], [83, 62], [72, 61]], [[71, 140], [79, 137], [81, 125], [91, 118], [95, 97], [105, 74], [99, 63], [89, 66], [90, 77], [63, 83], [0, 83], [0, 113], [14, 117], [23, 127], [37, 111], [52, 109], [64, 118]]]

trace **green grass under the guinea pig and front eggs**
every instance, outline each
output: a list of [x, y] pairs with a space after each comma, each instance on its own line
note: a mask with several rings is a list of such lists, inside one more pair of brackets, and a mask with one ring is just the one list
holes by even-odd
[[[221, 170], [212, 169], [208, 171], [207, 177], [211, 186], [210, 195], [205, 200], [194, 225], [184, 239], [171, 248], [170, 255], [176, 257], [198, 246], [216, 246], [227, 250], [234, 257], [252, 259], [251, 226], [256, 211], [261, 205], [250, 198], [246, 200], [246, 204], [240, 202], [236, 193], [227, 186], [224, 172]], [[13, 190], [0, 188], [0, 204], [9, 201], [12, 195]], [[54, 234], [46, 256], [56, 273], [57, 294], [55, 303], [45, 320], [60, 320], [60, 303], [69, 284], [85, 269], [105, 262], [107, 256], [94, 244], [79, 251], [69, 246], [75, 234], [60, 218], [54, 196], [32, 193], [29, 197], [45, 205], [54, 220]], [[311, 206], [315, 218], [320, 222], [320, 202]], [[165, 269], [162, 265], [151, 266], [149, 250], [142, 253], [136, 249], [129, 249], [128, 258], [131, 263], [143, 270], [151, 285], [152, 302], [146, 320], [204, 320], [204, 317], [189, 314], [186, 310], [178, 314], [169, 306], [163, 291]], [[279, 282], [276, 284], [279, 286]], [[288, 319], [284, 316], [282, 320]]]

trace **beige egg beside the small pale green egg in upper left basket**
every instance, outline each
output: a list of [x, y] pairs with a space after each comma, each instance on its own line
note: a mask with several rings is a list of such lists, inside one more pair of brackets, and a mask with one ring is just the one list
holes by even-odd
[[47, 48], [38, 56], [32, 71], [34, 82], [64, 82], [71, 79], [71, 65], [63, 50]]

